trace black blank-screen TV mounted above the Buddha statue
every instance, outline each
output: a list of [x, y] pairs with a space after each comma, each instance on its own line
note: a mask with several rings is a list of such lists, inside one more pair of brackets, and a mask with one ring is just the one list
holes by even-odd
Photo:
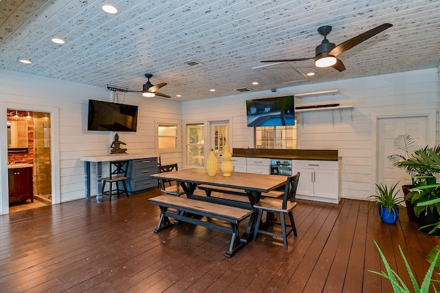
[[137, 106], [89, 100], [87, 122], [87, 130], [135, 132]]

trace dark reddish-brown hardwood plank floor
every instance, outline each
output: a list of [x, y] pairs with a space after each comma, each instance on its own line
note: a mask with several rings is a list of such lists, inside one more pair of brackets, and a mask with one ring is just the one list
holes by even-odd
[[298, 237], [289, 236], [289, 250], [259, 235], [227, 259], [230, 235], [223, 232], [181, 223], [153, 233], [159, 208], [147, 198], [155, 195], [0, 216], [0, 291], [392, 292], [368, 272], [384, 270], [373, 239], [408, 285], [398, 247], [421, 282], [426, 254], [438, 243], [404, 214], [396, 225], [383, 224], [367, 202], [298, 200]]

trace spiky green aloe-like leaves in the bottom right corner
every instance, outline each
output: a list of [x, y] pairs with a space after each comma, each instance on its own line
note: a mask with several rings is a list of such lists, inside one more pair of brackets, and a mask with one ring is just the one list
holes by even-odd
[[[438, 251], [435, 254], [433, 262], [431, 263], [431, 265], [428, 269], [428, 272], [426, 272], [425, 278], [423, 279], [421, 285], [419, 285], [419, 283], [417, 283], [417, 279], [415, 279], [414, 273], [412, 272], [408, 261], [406, 260], [404, 252], [401, 250], [401, 247], [399, 246], [401, 257], [402, 257], [402, 259], [404, 259], [406, 270], [410, 276], [412, 287], [414, 288], [414, 291], [410, 291], [408, 289], [408, 285], [406, 285], [404, 283], [404, 281], [402, 281], [399, 274], [397, 274], [397, 272], [395, 272], [395, 270], [391, 269], [391, 266], [389, 265], [388, 261], [386, 260], [386, 257], [384, 256], [384, 253], [382, 252], [382, 250], [380, 250], [380, 247], [377, 245], [376, 241], [374, 241], [374, 243], [375, 243], [377, 250], [379, 250], [379, 254], [382, 259], [382, 262], [385, 265], [386, 272], [375, 272], [373, 270], [369, 270], [369, 272], [373, 272], [374, 274], [378, 274], [380, 276], [383, 276], [385, 279], [390, 281], [391, 285], [393, 286], [394, 292], [416, 292], [416, 293], [429, 292], [432, 272], [434, 272], [435, 263], [437, 263], [437, 260], [439, 259], [440, 251]], [[434, 288], [434, 292], [437, 292], [434, 285], [432, 285], [432, 287]]]

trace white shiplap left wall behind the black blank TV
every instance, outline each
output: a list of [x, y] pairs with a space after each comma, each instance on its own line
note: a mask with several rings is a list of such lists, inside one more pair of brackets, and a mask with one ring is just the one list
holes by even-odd
[[[84, 164], [79, 160], [87, 155], [104, 155], [114, 133], [106, 131], [87, 131], [88, 100], [112, 100], [111, 91], [89, 85], [70, 83], [52, 78], [21, 74], [0, 70], [0, 103], [5, 109], [8, 105], [18, 105], [22, 109], [45, 111], [58, 110], [59, 144], [59, 202], [84, 198]], [[181, 104], [165, 98], [142, 98], [140, 94], [118, 93], [119, 102], [139, 106], [137, 132], [120, 132], [120, 140], [126, 143], [129, 153], [157, 153], [155, 150], [155, 122], [181, 123]], [[5, 112], [5, 111], [4, 111]], [[1, 113], [4, 117], [5, 113]], [[56, 126], [56, 122], [52, 125]], [[4, 128], [4, 129], [3, 129]], [[8, 184], [6, 127], [0, 130], [1, 136], [1, 213], [7, 213], [8, 195], [3, 182]], [[181, 164], [181, 151], [166, 153], [165, 160]], [[94, 178], [92, 167], [92, 179]], [[91, 182], [91, 195], [96, 195], [96, 183]]]

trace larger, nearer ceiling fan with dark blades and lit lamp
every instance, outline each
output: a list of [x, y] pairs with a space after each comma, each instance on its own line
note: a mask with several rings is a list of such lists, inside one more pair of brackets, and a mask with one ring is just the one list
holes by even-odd
[[292, 62], [292, 61], [305, 61], [305, 60], [314, 59], [316, 67], [333, 67], [339, 72], [343, 72], [345, 70], [345, 66], [342, 63], [342, 61], [336, 58], [336, 56], [351, 49], [355, 45], [359, 45], [363, 41], [370, 39], [372, 36], [379, 34], [380, 32], [386, 30], [387, 28], [391, 28], [392, 26], [393, 25], [391, 23], [384, 23], [375, 28], [372, 28], [369, 31], [359, 34], [354, 38], [344, 41], [344, 43], [340, 43], [339, 45], [336, 46], [335, 44], [330, 43], [329, 40], [327, 40], [327, 34], [331, 32], [331, 26], [324, 25], [318, 28], [318, 32], [322, 36], [324, 36], [324, 40], [322, 40], [322, 43], [318, 45], [318, 47], [316, 47], [315, 49], [316, 56], [311, 58], [265, 60], [261, 62]]

